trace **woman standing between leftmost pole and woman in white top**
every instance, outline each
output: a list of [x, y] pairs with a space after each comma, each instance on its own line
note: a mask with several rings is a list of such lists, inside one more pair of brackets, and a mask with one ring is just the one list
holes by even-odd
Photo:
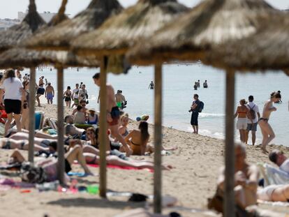
[[22, 117], [21, 127], [22, 129], [29, 129], [29, 80], [24, 81], [24, 94], [22, 96]]

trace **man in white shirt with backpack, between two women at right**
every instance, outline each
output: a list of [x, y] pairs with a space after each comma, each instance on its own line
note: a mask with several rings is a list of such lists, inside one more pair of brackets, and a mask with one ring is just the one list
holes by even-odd
[[252, 144], [255, 144], [256, 141], [256, 131], [257, 131], [257, 126], [258, 126], [258, 119], [260, 119], [260, 112], [258, 105], [253, 103], [254, 97], [249, 96], [248, 98], [249, 103], [246, 105], [249, 109], [249, 114], [248, 114], [248, 124], [247, 124], [247, 130], [246, 130], [246, 144], [248, 143], [249, 139], [249, 131], [252, 133]]

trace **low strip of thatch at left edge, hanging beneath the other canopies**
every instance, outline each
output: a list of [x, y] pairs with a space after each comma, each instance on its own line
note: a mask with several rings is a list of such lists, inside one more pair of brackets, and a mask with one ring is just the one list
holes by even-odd
[[68, 51], [30, 50], [12, 48], [0, 55], [0, 68], [36, 67], [40, 64], [54, 64], [61, 67], [98, 67], [94, 57], [78, 57]]

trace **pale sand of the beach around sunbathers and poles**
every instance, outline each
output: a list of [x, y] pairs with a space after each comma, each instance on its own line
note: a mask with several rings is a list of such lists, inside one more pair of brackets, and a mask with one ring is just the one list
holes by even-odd
[[[43, 105], [36, 110], [43, 110], [45, 117], [56, 117], [55, 105]], [[71, 113], [65, 109], [65, 113]], [[137, 128], [138, 123], [131, 121], [128, 128]], [[149, 125], [151, 141], [153, 141], [154, 126]], [[152, 144], [152, 142], [150, 142]], [[175, 208], [164, 209], [164, 213], [178, 211], [183, 216], [207, 216], [202, 213], [192, 213], [190, 209], [206, 209], [207, 198], [212, 197], [216, 190], [216, 179], [219, 168], [223, 165], [223, 140], [200, 135], [193, 135], [172, 128], [163, 128], [163, 145], [177, 146], [170, 156], [163, 156], [165, 165], [172, 165], [170, 171], [163, 171], [163, 195], [177, 197]], [[269, 146], [269, 150], [276, 146]], [[279, 147], [289, 155], [288, 147]], [[1, 162], [7, 160], [12, 151], [1, 150]], [[23, 151], [27, 154], [26, 151]], [[153, 156], [138, 156], [153, 160]], [[269, 163], [260, 147], [247, 146], [249, 163]], [[98, 169], [92, 168], [98, 173]], [[73, 165], [73, 171], [80, 171], [78, 165]], [[19, 180], [15, 173], [1, 172], [3, 177]], [[2, 177], [2, 178], [3, 178]], [[76, 178], [78, 185], [87, 186], [98, 184], [98, 177]], [[153, 192], [153, 173], [147, 170], [116, 170], [108, 168], [108, 189], [117, 192], [133, 192], [151, 195]], [[137, 207], [144, 207], [144, 203], [126, 202], [126, 197], [110, 197], [103, 200], [98, 195], [89, 193], [58, 193], [48, 191], [39, 193], [32, 189], [31, 193], [21, 193], [21, 189], [0, 190], [0, 208], [5, 210], [6, 216], [115, 216], [121, 212]], [[17, 208], [16, 208], [17, 207]], [[268, 209], [268, 206], [262, 205]], [[16, 209], [15, 209], [16, 208]], [[276, 211], [289, 214], [288, 207], [269, 207]]]

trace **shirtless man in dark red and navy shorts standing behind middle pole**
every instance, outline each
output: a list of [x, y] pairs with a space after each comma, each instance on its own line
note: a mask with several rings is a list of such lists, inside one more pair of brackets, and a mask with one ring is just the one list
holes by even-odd
[[[94, 77], [94, 83], [100, 87], [101, 86], [101, 79], [100, 73], [96, 73]], [[108, 121], [108, 128], [110, 128], [111, 134], [113, 137], [117, 138], [119, 142], [121, 142], [123, 148], [126, 151], [126, 155], [130, 156], [132, 154], [131, 148], [126, 144], [124, 137], [119, 134], [119, 117], [120, 112], [119, 108], [117, 107], [117, 103], [115, 102], [114, 97], [114, 89], [112, 85], [106, 84], [107, 89], [107, 121]]]

